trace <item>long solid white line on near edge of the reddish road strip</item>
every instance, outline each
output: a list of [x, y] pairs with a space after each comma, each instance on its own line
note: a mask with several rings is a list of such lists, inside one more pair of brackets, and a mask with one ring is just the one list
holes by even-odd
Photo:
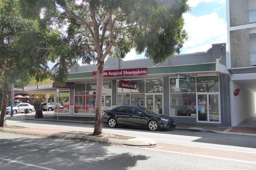
[[206, 157], [206, 158], [215, 158], [215, 159], [221, 159], [221, 160], [232, 160], [232, 161], [237, 161], [237, 162], [244, 162], [244, 163], [256, 164], [256, 162], [252, 162], [252, 161], [238, 160], [238, 159], [230, 159], [230, 158], [222, 158], [222, 157], [216, 157], [216, 156], [206, 156], [206, 155], [200, 155], [200, 154], [191, 154], [191, 153], [184, 153], [184, 152], [174, 152], [174, 151], [159, 150], [159, 149], [150, 149], [150, 148], [139, 148], [139, 147], [132, 147], [132, 148], [146, 149], [146, 150], [156, 150], [156, 151], [161, 151], [161, 152], [186, 154], [186, 155], [192, 155], [192, 156], [201, 156], [201, 157]]

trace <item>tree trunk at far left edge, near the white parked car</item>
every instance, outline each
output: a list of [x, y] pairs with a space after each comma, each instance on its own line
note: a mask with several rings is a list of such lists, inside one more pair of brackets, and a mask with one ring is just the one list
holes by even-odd
[[2, 107], [1, 107], [1, 114], [0, 114], [0, 127], [6, 126], [6, 107], [8, 104], [8, 80], [5, 75], [6, 72], [6, 61], [2, 64], [3, 67], [3, 95], [2, 95]]

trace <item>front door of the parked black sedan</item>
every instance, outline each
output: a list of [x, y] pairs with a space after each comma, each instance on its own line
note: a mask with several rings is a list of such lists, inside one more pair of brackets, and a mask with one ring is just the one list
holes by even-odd
[[146, 127], [148, 123], [147, 115], [138, 107], [130, 107], [130, 114], [127, 117], [127, 122], [130, 126]]

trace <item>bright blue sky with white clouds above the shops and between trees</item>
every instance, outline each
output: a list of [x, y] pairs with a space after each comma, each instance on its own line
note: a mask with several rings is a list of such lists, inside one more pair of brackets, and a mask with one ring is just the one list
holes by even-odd
[[[212, 44], [226, 43], [226, 0], [188, 0], [188, 4], [191, 12], [183, 14], [188, 40], [180, 54], [207, 51]], [[124, 60], [143, 58], [144, 54], [138, 55], [132, 49]], [[81, 61], [78, 63], [82, 65]], [[48, 65], [52, 67], [53, 63]]]

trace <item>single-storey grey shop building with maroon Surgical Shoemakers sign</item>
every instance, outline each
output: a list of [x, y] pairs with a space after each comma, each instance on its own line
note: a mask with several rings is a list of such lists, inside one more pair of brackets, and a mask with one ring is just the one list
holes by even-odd
[[[142, 106], [174, 117], [178, 123], [230, 125], [229, 77], [226, 56], [221, 57], [220, 50], [223, 45], [171, 57], [158, 65], [150, 59], [108, 58], [104, 64], [102, 110]], [[68, 82], [74, 84], [74, 89], [60, 90], [55, 113], [59, 106], [59, 116], [94, 117], [96, 69], [96, 65], [79, 64], [70, 68]], [[176, 87], [177, 79], [187, 86]]]

